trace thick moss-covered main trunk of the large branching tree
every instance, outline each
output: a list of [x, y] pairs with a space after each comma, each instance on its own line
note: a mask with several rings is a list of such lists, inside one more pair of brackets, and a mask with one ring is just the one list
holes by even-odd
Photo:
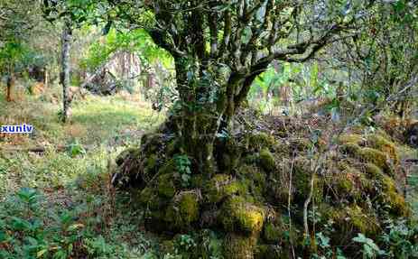
[[180, 98], [167, 125], [172, 125], [181, 153], [189, 156], [197, 173], [211, 175], [218, 167], [216, 154], [224, 152], [217, 138], [233, 134], [234, 116], [246, 97], [243, 90], [249, 90], [255, 77], [233, 71], [226, 77], [222, 67], [193, 58], [175, 59], [175, 65]]

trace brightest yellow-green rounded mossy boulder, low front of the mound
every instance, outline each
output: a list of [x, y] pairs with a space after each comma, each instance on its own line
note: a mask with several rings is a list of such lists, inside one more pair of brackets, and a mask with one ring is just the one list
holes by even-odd
[[225, 230], [254, 235], [263, 227], [265, 211], [242, 197], [229, 198], [221, 208], [220, 221]]

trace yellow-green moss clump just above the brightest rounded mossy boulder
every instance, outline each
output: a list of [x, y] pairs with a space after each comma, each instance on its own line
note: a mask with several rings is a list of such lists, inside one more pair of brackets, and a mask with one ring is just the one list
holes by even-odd
[[216, 174], [208, 180], [203, 189], [209, 203], [218, 203], [234, 194], [245, 195], [247, 187], [242, 181], [234, 180], [228, 174]]

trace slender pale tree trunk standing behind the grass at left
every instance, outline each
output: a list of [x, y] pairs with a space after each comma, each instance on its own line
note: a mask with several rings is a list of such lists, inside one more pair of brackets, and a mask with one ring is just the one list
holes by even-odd
[[71, 23], [65, 21], [62, 30], [62, 50], [61, 50], [61, 79], [62, 84], [62, 122], [66, 122], [70, 115], [70, 41], [71, 41]]

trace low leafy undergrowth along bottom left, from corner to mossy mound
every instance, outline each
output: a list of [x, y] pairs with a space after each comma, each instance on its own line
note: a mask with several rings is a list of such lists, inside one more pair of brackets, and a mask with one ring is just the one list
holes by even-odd
[[108, 220], [100, 211], [106, 202], [88, 196], [62, 206], [37, 190], [18, 190], [0, 204], [0, 259], [143, 258], [152, 239], [129, 222], [132, 214]]

